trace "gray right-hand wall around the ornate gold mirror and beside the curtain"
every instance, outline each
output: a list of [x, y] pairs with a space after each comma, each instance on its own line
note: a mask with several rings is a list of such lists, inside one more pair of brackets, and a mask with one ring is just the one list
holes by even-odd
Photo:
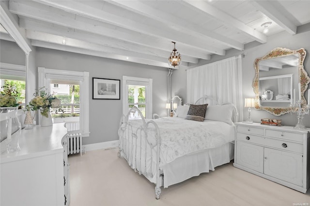
[[[252, 81], [254, 78], [254, 60], [256, 58], [264, 56], [267, 52], [272, 50], [275, 47], [289, 48], [296, 50], [299, 48], [305, 48], [308, 52], [305, 61], [304, 67], [308, 74], [310, 74], [310, 24], [303, 25], [298, 27], [297, 34], [290, 35], [287, 32], [283, 31], [277, 35], [272, 35], [267, 38], [266, 44], [259, 44], [257, 42], [246, 44], [244, 51], [238, 51], [235, 49], [230, 49], [226, 51], [225, 57], [218, 55], [213, 55], [212, 60], [202, 61], [199, 65], [208, 64], [215, 62], [221, 59], [226, 59], [233, 57], [235, 55], [246, 53], [245, 57], [242, 58], [242, 85], [243, 85], [243, 99], [255, 97], [254, 91], [252, 88]], [[180, 51], [182, 53], [182, 51]], [[193, 66], [196, 67], [196, 66]], [[171, 76], [171, 93], [172, 95], [177, 94], [183, 98], [186, 103], [186, 71], [184, 69], [174, 70], [174, 73]], [[308, 93], [305, 92], [305, 98], [307, 100]], [[244, 108], [243, 117], [247, 119], [248, 108]], [[254, 122], [260, 122], [261, 118], [277, 118], [276, 116], [264, 111], [264, 110], [251, 110], [251, 118]], [[296, 114], [285, 114], [279, 116], [278, 118], [282, 119], [283, 125], [294, 126], [297, 123]], [[306, 127], [310, 127], [310, 116], [304, 116], [304, 124]]]

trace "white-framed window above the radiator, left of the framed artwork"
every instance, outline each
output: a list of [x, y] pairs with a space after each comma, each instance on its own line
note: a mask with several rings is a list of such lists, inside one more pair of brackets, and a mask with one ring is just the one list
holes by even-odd
[[[46, 87], [62, 103], [62, 112], [51, 111], [53, 122], [78, 122], [83, 136], [89, 135], [89, 73], [38, 68], [39, 88]], [[55, 89], [55, 85], [58, 88]], [[39, 118], [40, 119], [40, 118]]]

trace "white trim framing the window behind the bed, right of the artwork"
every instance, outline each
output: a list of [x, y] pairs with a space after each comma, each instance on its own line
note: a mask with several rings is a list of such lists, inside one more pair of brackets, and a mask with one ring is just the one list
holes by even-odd
[[123, 76], [123, 114], [127, 115], [128, 113], [128, 86], [137, 84], [141, 86], [146, 86], [146, 116], [145, 118], [152, 119], [153, 114], [153, 79], [152, 78], [140, 78], [140, 77], [133, 77], [133, 76]]

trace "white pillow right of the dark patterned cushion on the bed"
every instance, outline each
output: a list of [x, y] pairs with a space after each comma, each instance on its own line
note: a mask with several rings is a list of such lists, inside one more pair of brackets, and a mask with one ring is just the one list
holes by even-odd
[[233, 110], [234, 106], [232, 104], [209, 105], [207, 107], [207, 111], [205, 112], [204, 119], [223, 121], [228, 124], [233, 124], [232, 121]]

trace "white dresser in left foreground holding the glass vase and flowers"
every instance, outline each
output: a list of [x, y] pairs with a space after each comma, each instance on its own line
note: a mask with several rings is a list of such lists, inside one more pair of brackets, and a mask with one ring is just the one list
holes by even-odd
[[21, 150], [1, 155], [1, 206], [69, 205], [66, 133], [63, 123], [22, 130]]

